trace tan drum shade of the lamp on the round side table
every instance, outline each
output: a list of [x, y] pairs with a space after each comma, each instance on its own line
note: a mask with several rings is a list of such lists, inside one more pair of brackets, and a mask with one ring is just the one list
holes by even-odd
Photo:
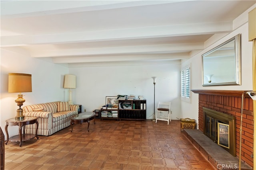
[[8, 92], [32, 92], [32, 75], [23, 73], [9, 73]]

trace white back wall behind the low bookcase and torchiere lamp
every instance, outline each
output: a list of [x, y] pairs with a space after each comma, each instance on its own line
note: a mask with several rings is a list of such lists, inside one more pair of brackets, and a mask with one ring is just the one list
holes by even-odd
[[159, 101], [170, 101], [172, 119], [176, 119], [180, 114], [180, 61], [172, 63], [70, 68], [70, 74], [77, 77], [73, 103], [81, 104], [82, 111], [93, 111], [106, 104], [106, 96], [141, 95], [147, 100], [147, 119], [152, 119], [154, 84], [151, 77], [156, 76], [155, 110]]

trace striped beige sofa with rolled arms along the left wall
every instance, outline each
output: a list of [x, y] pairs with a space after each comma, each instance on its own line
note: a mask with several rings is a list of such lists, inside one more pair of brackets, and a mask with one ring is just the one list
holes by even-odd
[[[23, 107], [24, 116], [38, 117], [38, 135], [50, 136], [53, 133], [68, 127], [70, 118], [78, 114], [78, 105], [69, 105], [68, 102], [50, 102]], [[36, 125], [27, 125], [26, 133], [36, 132]]]

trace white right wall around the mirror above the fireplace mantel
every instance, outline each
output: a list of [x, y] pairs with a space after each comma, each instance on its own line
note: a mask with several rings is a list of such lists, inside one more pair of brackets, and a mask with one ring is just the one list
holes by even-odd
[[[242, 85], [236, 86], [202, 86], [202, 59], [201, 55], [214, 47], [227, 41], [237, 34], [241, 34], [241, 70]], [[248, 41], [248, 23], [238, 27], [232, 33], [224, 35], [218, 41], [215, 37], [207, 42], [209, 47], [192, 56], [187, 61], [182, 61], [182, 66], [191, 66], [191, 89], [203, 90], [252, 90], [252, 42]], [[214, 41], [212, 41], [214, 40]], [[191, 102], [181, 102], [181, 116], [196, 119], [198, 122], [198, 94], [191, 92]]]

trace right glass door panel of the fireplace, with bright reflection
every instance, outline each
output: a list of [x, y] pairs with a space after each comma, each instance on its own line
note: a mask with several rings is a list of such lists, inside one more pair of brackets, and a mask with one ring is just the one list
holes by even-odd
[[229, 125], [218, 122], [218, 145], [229, 149]]

